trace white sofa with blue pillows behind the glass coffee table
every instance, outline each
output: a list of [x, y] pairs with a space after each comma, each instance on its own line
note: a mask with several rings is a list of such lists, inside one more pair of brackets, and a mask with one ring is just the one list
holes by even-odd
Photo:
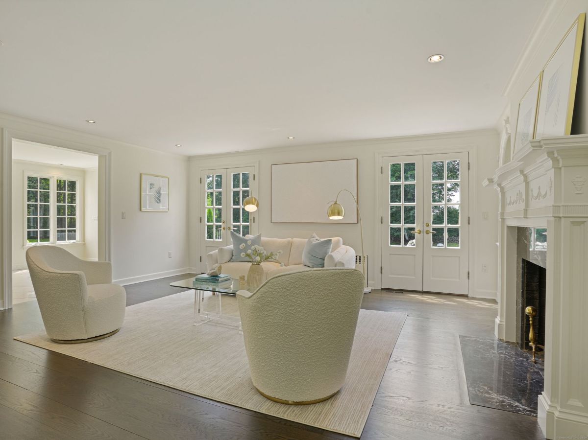
[[[251, 236], [246, 236], [251, 237]], [[302, 264], [302, 251], [308, 239], [270, 239], [262, 237], [261, 246], [269, 252], [282, 251], [280, 263], [271, 263], [266, 261], [262, 263], [263, 281], [281, 273], [310, 269]], [[343, 239], [335, 237], [331, 253], [325, 258], [325, 267], [348, 267], [355, 268], [355, 250], [343, 244]], [[233, 245], [212, 251], [206, 256], [206, 266], [211, 270], [215, 264], [222, 264], [222, 273], [228, 274], [233, 278], [239, 278], [239, 275], [246, 275], [251, 263], [229, 263], [232, 257]]]

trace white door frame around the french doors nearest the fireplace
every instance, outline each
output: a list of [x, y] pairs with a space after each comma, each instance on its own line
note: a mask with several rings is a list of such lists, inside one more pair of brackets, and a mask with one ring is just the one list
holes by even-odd
[[[467, 283], [467, 291], [471, 296], [472, 293], [475, 291], [475, 278], [476, 278], [476, 271], [473, 270], [474, 263], [475, 263], [475, 240], [472, 240], [472, 237], [477, 237], [477, 220], [476, 216], [472, 216], [472, 212], [475, 211], [476, 207], [476, 199], [477, 199], [477, 145], [472, 143], [467, 143], [464, 145], [457, 145], [459, 139], [455, 139], [456, 145], [453, 146], [445, 146], [445, 147], [432, 147], [432, 146], [422, 146], [422, 147], [415, 147], [412, 145], [413, 143], [407, 141], [404, 145], [399, 145], [398, 148], [395, 149], [386, 149], [386, 150], [379, 150], [375, 152], [374, 157], [374, 187], [376, 189], [375, 200], [378, 202], [375, 203], [375, 211], [374, 211], [374, 218], [382, 216], [382, 206], [380, 201], [382, 200], [382, 173], [378, 173], [377, 170], [382, 169], [382, 158], [386, 156], [416, 156], [417, 154], [439, 154], [439, 153], [469, 153], [469, 161], [470, 161], [470, 172], [469, 172], [469, 204], [470, 204], [470, 243], [469, 243], [469, 257], [468, 257], [468, 266], [470, 271], [470, 278]], [[377, 267], [382, 267], [382, 228], [376, 228], [376, 246], [375, 246], [375, 257], [372, 260], [375, 260], [375, 270], [377, 273]], [[375, 288], [382, 287], [382, 276], [375, 278]]]

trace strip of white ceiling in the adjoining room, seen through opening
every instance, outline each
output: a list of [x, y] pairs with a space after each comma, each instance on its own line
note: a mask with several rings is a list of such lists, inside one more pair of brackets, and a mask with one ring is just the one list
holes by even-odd
[[12, 140], [12, 159], [85, 169], [98, 167], [98, 156], [93, 154], [17, 139]]

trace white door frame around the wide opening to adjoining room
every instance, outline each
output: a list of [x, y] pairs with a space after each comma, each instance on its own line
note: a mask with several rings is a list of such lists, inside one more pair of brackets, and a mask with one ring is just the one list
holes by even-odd
[[38, 135], [31, 132], [0, 128], [2, 158], [2, 292], [0, 309], [12, 307], [12, 139], [42, 143], [98, 156], [98, 260], [111, 261], [111, 151], [102, 147]]

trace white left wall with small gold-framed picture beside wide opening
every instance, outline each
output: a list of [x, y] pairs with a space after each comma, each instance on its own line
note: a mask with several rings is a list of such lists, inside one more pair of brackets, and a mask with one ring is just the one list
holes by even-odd
[[[18, 139], [91, 151], [109, 151], [111, 160], [111, 261], [113, 278], [119, 283], [153, 279], [185, 273], [188, 267], [188, 158], [163, 153], [146, 147], [118, 142], [88, 133], [65, 129], [18, 116], [0, 113], [0, 168], [11, 173], [5, 162], [9, 148], [8, 136]], [[139, 211], [139, 177], [141, 173], [163, 174], [170, 177], [168, 213]], [[11, 251], [11, 230], [5, 229], [4, 212], [8, 211], [2, 196], [0, 179], [0, 247]], [[126, 212], [126, 220], [121, 212]], [[168, 251], [172, 258], [168, 258]], [[5, 254], [0, 255], [0, 300], [4, 297], [6, 277], [2, 270]], [[3, 304], [0, 304], [2, 307]]]

